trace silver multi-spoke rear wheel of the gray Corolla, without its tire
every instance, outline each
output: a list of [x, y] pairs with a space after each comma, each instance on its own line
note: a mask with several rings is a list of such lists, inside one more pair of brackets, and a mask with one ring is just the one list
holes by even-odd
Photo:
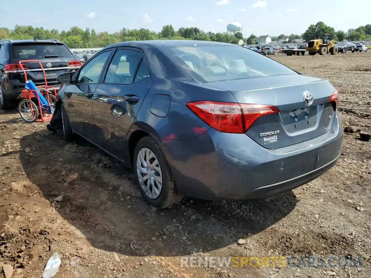
[[156, 199], [162, 190], [162, 172], [154, 152], [142, 148], [137, 156], [137, 175], [139, 184], [150, 199]]

